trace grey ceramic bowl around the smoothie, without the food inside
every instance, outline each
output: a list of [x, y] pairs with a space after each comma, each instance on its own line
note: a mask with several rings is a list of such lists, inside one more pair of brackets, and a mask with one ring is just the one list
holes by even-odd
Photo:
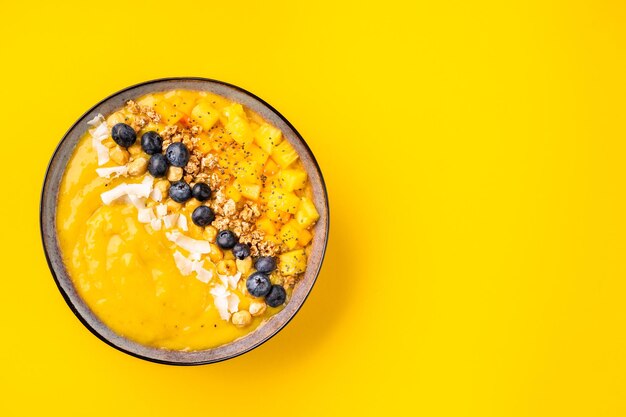
[[[78, 295], [63, 263], [57, 240], [57, 197], [61, 179], [74, 148], [81, 136], [89, 128], [87, 121], [93, 119], [98, 113], [107, 115], [123, 107], [126, 101], [130, 99], [152, 92], [172, 89], [209, 91], [218, 94], [247, 106], [278, 127], [282, 131], [284, 138], [294, 146], [300, 156], [311, 182], [315, 206], [320, 214], [314, 229], [315, 233], [306, 272], [296, 284], [291, 299], [285, 308], [246, 336], [228, 344], [206, 350], [174, 351], [159, 349], [141, 345], [113, 332], [93, 314]], [[41, 195], [40, 227], [46, 259], [59, 291], [76, 317], [94, 335], [114, 348], [137, 358], [170, 365], [202, 365], [233, 358], [261, 345], [289, 323], [300, 307], [302, 307], [313, 288], [324, 259], [329, 231], [328, 195], [322, 172], [311, 149], [291, 123], [268, 103], [240, 87], [222, 81], [196, 77], [164, 78], [146, 81], [125, 88], [105, 98], [83, 114], [65, 133], [54, 151], [46, 171]]]

